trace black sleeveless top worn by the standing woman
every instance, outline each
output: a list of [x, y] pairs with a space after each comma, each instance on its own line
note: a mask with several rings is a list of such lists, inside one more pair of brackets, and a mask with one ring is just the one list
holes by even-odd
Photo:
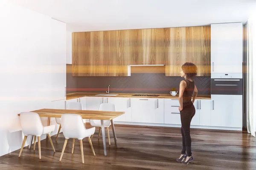
[[195, 82], [192, 81], [190, 82], [189, 80], [185, 79], [185, 82], [186, 82], [186, 88], [183, 92], [183, 108], [186, 107], [186, 106], [190, 106], [190, 105], [193, 105], [193, 102], [192, 102], [192, 96], [194, 94], [194, 89], [195, 89]]

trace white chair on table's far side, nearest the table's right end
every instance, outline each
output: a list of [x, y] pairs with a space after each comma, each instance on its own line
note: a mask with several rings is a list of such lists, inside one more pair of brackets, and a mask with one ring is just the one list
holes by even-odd
[[[102, 103], [99, 105], [99, 111], [116, 111], [116, 106], [112, 103]], [[110, 136], [109, 136], [109, 126], [111, 125], [111, 122], [110, 120], [104, 120], [103, 123], [104, 123], [104, 127], [107, 127], [108, 143], [109, 145], [111, 145]], [[99, 127], [99, 136], [100, 136], [101, 121], [90, 119], [90, 125], [94, 127]], [[98, 139], [99, 139], [99, 136], [98, 136]]]

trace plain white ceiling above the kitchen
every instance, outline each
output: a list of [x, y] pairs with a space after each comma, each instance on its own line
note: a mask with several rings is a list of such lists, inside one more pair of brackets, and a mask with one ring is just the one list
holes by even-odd
[[10, 1], [67, 23], [72, 32], [245, 23], [256, 11], [256, 0]]

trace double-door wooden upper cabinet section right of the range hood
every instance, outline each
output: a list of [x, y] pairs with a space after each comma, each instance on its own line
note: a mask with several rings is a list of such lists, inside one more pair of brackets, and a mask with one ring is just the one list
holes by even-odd
[[210, 26], [170, 28], [166, 76], [180, 76], [185, 62], [198, 67], [198, 76], [210, 76], [210, 46]]

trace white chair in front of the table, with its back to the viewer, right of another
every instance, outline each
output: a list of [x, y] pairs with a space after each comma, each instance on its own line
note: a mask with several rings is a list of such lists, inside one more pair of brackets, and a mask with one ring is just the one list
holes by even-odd
[[[73, 138], [72, 153], [74, 151], [75, 139], [79, 139], [80, 147], [81, 147], [82, 162], [84, 163], [83, 139], [86, 137], [88, 138], [90, 146], [93, 150], [93, 144], [91, 142], [90, 136], [94, 134], [95, 127], [86, 129], [84, 126], [82, 117], [77, 114], [61, 115], [61, 125], [62, 125], [63, 135], [65, 137], [65, 142], [61, 152], [60, 161], [62, 159], [68, 139]], [[95, 156], [94, 150], [93, 150], [93, 155]]]

